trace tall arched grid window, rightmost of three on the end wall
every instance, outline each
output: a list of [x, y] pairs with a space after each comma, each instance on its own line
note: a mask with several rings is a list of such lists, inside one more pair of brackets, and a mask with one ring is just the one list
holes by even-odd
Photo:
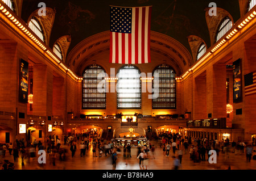
[[[153, 71], [154, 78], [158, 78], [159, 95], [152, 99], [152, 109], [176, 109], [176, 73], [169, 65], [159, 65]], [[153, 88], [156, 87], [155, 80]]]

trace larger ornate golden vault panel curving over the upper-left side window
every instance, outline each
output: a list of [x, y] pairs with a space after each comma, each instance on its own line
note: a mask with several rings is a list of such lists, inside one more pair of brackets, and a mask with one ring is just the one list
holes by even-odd
[[55, 10], [49, 7], [46, 7], [46, 16], [39, 16], [38, 10], [35, 10], [34, 12], [32, 12], [32, 14], [30, 15], [27, 21], [28, 23], [33, 16], [35, 16], [39, 20], [39, 23], [41, 24], [44, 31], [45, 41], [47, 45], [49, 45], [49, 39], [52, 32], [52, 26], [55, 19], [55, 14], [56, 14]]

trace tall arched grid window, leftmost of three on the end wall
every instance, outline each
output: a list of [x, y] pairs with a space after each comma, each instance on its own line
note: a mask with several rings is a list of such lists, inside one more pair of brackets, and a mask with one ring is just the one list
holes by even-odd
[[[99, 74], [105, 74], [105, 70], [99, 65], [90, 65], [85, 68], [82, 81], [82, 109], [83, 110], [105, 110], [106, 91], [98, 91], [98, 85], [104, 80], [98, 79]], [[106, 90], [106, 84], [102, 84]]]

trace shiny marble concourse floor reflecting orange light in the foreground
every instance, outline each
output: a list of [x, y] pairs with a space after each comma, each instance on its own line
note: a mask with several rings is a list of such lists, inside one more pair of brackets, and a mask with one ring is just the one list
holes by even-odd
[[[148, 170], [172, 170], [174, 159], [172, 158], [172, 151], [170, 156], [163, 155], [163, 151], [160, 148], [160, 142], [151, 141], [151, 144], [155, 145], [154, 157], [150, 151], [150, 159], [148, 160]], [[68, 146], [68, 153], [65, 161], [56, 159], [56, 165], [53, 166], [49, 155], [47, 155], [46, 163], [39, 164], [38, 156], [35, 158], [24, 159], [24, 166], [22, 166], [21, 157], [18, 158], [18, 162], [15, 162], [15, 170], [113, 170], [112, 159], [110, 155], [99, 157], [93, 157], [92, 148], [89, 146], [87, 155], [80, 157], [80, 150], [77, 149], [75, 156], [71, 157], [71, 151]], [[256, 147], [254, 146], [254, 150]], [[122, 151], [122, 149], [121, 149]], [[139, 159], [137, 159], [137, 148], [131, 149], [131, 158], [127, 160], [123, 158], [123, 153], [118, 155], [117, 165], [115, 170], [144, 170], [146, 167], [139, 166]], [[177, 155], [177, 154], [176, 154]], [[207, 157], [207, 156], [206, 156]], [[6, 157], [2, 159], [8, 159], [14, 162], [14, 158], [9, 152], [6, 152]], [[127, 161], [127, 165], [125, 164]], [[200, 163], [194, 163], [189, 159], [189, 154], [183, 154], [182, 163], [179, 167], [180, 170], [226, 170], [230, 166], [231, 170], [256, 170], [256, 160], [251, 159], [251, 162], [246, 162], [246, 154], [241, 153], [235, 155], [229, 154], [229, 158], [224, 157], [224, 153], [220, 153], [217, 157], [217, 163], [210, 164], [208, 161], [201, 161]]]

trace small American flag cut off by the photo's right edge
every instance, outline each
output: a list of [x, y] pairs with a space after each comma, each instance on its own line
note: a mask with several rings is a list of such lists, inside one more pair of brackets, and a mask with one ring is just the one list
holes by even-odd
[[245, 75], [245, 96], [256, 94], [256, 71]]

